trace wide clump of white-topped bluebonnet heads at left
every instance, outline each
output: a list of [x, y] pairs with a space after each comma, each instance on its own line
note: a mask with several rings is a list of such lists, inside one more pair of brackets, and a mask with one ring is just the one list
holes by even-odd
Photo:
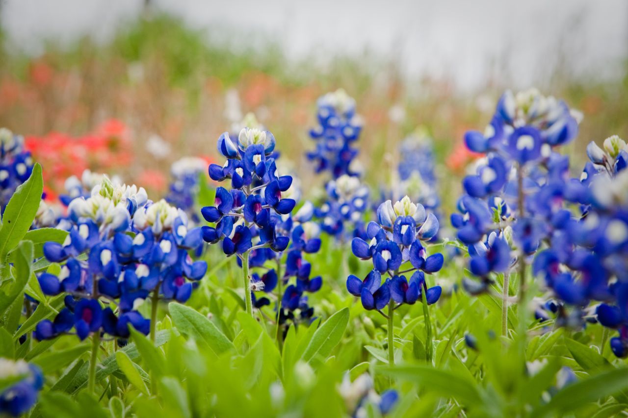
[[[48, 261], [62, 264], [60, 271], [38, 277], [44, 294], [67, 295], [65, 308], [53, 321], [38, 323], [38, 340], [72, 328], [81, 340], [101, 332], [125, 339], [129, 323], [147, 334], [149, 320], [137, 311], [144, 299], [153, 292], [153, 303], [158, 297], [185, 302], [207, 270], [188, 255], [202, 242], [200, 228], [188, 230], [185, 213], [163, 200], [152, 203], [143, 188], [105, 177], [89, 198], [70, 202], [68, 221], [65, 242], [43, 246]], [[115, 311], [103, 309], [101, 300]]]

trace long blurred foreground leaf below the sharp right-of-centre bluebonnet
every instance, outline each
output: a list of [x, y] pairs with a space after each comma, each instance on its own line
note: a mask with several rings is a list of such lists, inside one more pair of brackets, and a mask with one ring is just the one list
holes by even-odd
[[427, 392], [453, 398], [465, 405], [482, 404], [480, 392], [474, 383], [448, 370], [436, 369], [428, 365], [380, 366], [377, 370], [384, 375], [416, 383]]

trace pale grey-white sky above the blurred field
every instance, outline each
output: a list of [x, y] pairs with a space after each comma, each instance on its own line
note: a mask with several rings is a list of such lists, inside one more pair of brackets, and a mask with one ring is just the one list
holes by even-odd
[[[42, 41], [111, 36], [143, 0], [0, 0], [4, 27], [32, 53]], [[452, 77], [480, 87], [547, 79], [559, 63], [610, 77], [628, 54], [625, 0], [155, 0], [212, 36], [277, 41], [290, 58], [359, 55], [398, 60], [406, 75]], [[89, 6], [86, 6], [89, 4]], [[263, 36], [259, 36], [263, 35]], [[557, 51], [561, 51], [560, 56]], [[499, 68], [499, 70], [497, 70]]]

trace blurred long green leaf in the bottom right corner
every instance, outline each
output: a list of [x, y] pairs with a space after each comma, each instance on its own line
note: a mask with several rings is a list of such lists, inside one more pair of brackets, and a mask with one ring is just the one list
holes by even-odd
[[628, 369], [617, 368], [567, 385], [545, 405], [531, 413], [540, 417], [566, 414], [590, 402], [628, 389]]

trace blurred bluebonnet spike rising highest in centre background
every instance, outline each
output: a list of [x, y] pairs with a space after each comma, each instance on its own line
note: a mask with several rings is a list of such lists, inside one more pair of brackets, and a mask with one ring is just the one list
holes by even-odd
[[332, 178], [357, 174], [352, 166], [357, 141], [362, 131], [362, 118], [355, 113], [355, 100], [339, 89], [318, 99], [318, 126], [310, 130], [316, 149], [306, 154], [316, 164], [316, 172], [330, 171]]

